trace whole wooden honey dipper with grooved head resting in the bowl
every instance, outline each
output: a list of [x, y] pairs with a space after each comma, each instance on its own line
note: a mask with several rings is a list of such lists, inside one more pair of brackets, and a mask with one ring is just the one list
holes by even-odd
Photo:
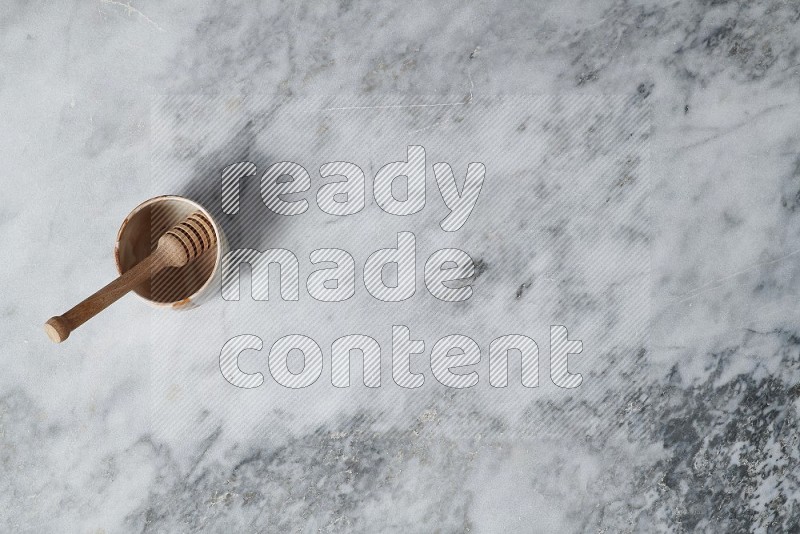
[[74, 308], [50, 318], [44, 324], [48, 337], [61, 343], [70, 332], [119, 300], [167, 267], [183, 267], [211, 249], [217, 242], [211, 222], [196, 211], [173, 226], [158, 239], [156, 249], [145, 259], [125, 271], [116, 280], [88, 297]]

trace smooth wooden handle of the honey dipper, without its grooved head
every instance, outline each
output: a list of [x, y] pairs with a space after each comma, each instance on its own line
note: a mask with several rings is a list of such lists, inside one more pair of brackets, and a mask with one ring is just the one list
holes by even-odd
[[51, 317], [44, 325], [48, 337], [55, 343], [61, 343], [67, 339], [70, 332], [119, 300], [131, 289], [148, 280], [155, 270], [165, 267], [163, 260], [163, 254], [159, 254], [156, 250], [68, 312]]

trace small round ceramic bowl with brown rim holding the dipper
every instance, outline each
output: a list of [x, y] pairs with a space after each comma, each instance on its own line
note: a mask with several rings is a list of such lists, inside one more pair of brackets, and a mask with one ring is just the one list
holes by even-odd
[[158, 238], [195, 211], [211, 221], [217, 244], [192, 263], [167, 268], [134, 292], [153, 306], [185, 310], [199, 306], [219, 291], [220, 263], [227, 248], [225, 236], [211, 214], [197, 202], [179, 196], [151, 198], [136, 206], [117, 232], [114, 261], [124, 273], [155, 250]]

